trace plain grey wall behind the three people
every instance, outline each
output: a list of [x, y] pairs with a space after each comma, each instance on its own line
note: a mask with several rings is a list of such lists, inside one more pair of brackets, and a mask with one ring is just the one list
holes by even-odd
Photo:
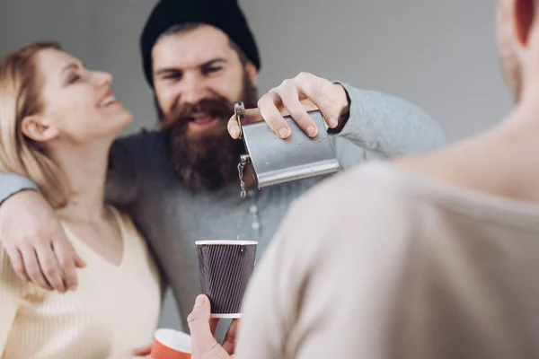
[[[309, 71], [412, 101], [455, 141], [499, 121], [511, 99], [499, 73], [494, 6], [470, 0], [242, 0], [261, 49], [260, 92]], [[1, 0], [0, 53], [55, 39], [114, 75], [135, 114], [155, 126], [138, 36], [155, 0]], [[160, 325], [179, 328], [171, 296]]]

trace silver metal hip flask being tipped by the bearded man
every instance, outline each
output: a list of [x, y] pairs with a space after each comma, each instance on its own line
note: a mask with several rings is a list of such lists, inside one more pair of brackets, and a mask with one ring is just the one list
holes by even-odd
[[252, 166], [259, 189], [339, 171], [339, 162], [319, 110], [307, 112], [318, 127], [318, 135], [312, 138], [293, 118], [284, 116], [292, 130], [287, 139], [278, 137], [263, 120], [242, 125], [243, 102], [234, 103], [234, 113], [246, 151], [240, 156], [240, 165]]

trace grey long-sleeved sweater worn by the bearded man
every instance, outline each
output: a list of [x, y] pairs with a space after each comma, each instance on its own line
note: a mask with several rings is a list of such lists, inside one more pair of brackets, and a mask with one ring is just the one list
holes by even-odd
[[[331, 141], [342, 169], [370, 159], [420, 153], [445, 144], [445, 137], [421, 109], [380, 92], [343, 83], [349, 93], [350, 116]], [[323, 178], [287, 183], [240, 197], [239, 184], [194, 195], [176, 178], [165, 138], [146, 131], [118, 139], [111, 148], [114, 167], [106, 200], [131, 215], [172, 287], [181, 323], [200, 292], [195, 241], [243, 239], [259, 241], [264, 253], [288, 206]], [[31, 181], [0, 173], [0, 203]]]

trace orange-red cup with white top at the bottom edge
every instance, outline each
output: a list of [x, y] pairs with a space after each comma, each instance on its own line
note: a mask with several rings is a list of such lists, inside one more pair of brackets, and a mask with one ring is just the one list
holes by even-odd
[[150, 357], [152, 359], [190, 359], [190, 336], [174, 329], [155, 330]]

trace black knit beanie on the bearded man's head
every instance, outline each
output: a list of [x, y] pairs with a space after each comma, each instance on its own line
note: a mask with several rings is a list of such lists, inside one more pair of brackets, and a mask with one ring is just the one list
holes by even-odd
[[152, 48], [155, 41], [174, 25], [201, 22], [225, 32], [258, 69], [258, 48], [237, 0], [160, 0], [150, 14], [140, 36], [140, 54], [146, 81], [154, 87]]

